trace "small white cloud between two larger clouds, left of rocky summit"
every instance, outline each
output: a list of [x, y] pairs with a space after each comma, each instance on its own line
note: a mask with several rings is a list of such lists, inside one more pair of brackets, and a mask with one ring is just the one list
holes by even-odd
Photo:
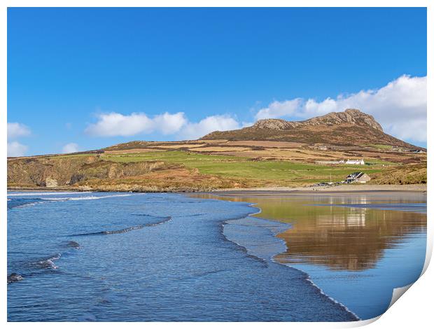
[[241, 128], [241, 125], [238, 121], [229, 115], [208, 116], [198, 123], [188, 123], [185, 125], [179, 136], [182, 139], [197, 139], [216, 130], [235, 130], [239, 128]]

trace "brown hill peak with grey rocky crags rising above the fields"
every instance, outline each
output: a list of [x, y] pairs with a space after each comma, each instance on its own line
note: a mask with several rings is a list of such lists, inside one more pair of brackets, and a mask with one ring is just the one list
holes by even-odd
[[415, 148], [405, 141], [384, 133], [383, 128], [373, 116], [358, 109], [331, 112], [325, 116], [317, 116], [303, 121], [262, 119], [251, 127], [225, 132], [211, 132], [202, 139], [293, 141], [342, 146], [384, 144]]

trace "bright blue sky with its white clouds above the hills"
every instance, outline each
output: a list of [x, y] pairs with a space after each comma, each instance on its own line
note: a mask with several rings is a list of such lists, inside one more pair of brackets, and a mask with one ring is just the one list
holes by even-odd
[[11, 151], [189, 139], [342, 106], [426, 145], [424, 8], [8, 9]]

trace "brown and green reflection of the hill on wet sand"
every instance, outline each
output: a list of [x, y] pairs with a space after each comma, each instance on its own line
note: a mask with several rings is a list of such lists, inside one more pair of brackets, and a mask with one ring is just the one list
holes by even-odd
[[[290, 223], [292, 228], [278, 235], [288, 249], [274, 257], [290, 264], [309, 263], [349, 271], [371, 269], [386, 249], [399, 247], [409, 235], [426, 232], [423, 211], [396, 210], [399, 204], [426, 209], [423, 193], [244, 192], [209, 197], [257, 204], [261, 213], [255, 216]], [[390, 209], [390, 204], [395, 210], [385, 210]], [[342, 207], [345, 205], [349, 207]]]

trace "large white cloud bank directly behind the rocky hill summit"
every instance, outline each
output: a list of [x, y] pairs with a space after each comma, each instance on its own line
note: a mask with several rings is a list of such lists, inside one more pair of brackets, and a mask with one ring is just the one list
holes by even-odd
[[404, 75], [377, 90], [341, 94], [322, 102], [299, 98], [272, 102], [260, 109], [255, 117], [305, 119], [349, 108], [371, 114], [388, 134], [400, 139], [426, 141], [426, 76]]

